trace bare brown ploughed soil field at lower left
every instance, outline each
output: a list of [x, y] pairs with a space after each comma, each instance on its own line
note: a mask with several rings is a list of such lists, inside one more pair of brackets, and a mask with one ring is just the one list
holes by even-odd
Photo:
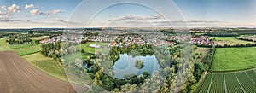
[[72, 85], [83, 92], [86, 88], [50, 77], [32, 67], [13, 51], [0, 52], [1, 93], [75, 93]]

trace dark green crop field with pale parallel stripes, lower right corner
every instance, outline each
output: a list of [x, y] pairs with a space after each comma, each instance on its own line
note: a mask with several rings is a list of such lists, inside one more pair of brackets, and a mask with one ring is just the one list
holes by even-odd
[[255, 69], [236, 73], [207, 73], [197, 91], [199, 93], [255, 93], [255, 76]]

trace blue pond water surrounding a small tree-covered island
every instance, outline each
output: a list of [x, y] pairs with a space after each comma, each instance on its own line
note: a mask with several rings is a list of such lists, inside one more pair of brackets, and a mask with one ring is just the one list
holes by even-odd
[[[137, 69], [135, 67], [136, 61], [143, 61], [143, 68]], [[123, 78], [127, 74], [143, 74], [143, 72], [148, 72], [149, 74], [154, 73], [159, 70], [160, 65], [154, 55], [146, 56], [136, 56], [132, 57], [127, 54], [120, 54], [120, 58], [113, 65], [113, 71], [115, 71], [115, 78]]]

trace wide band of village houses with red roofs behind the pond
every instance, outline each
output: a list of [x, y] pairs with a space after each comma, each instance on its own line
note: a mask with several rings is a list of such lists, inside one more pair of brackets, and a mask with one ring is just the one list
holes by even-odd
[[[61, 35], [53, 38], [45, 38], [39, 43], [41, 44], [50, 44], [56, 42], [69, 42], [69, 43], [76, 43], [79, 44], [83, 40], [89, 40], [94, 42], [110, 42], [108, 44], [109, 47], [125, 45], [128, 46], [129, 44], [153, 44], [157, 45], [172, 45], [175, 44], [175, 40], [185, 40], [189, 39], [186, 36], [170, 36], [166, 37], [168, 40], [163, 40], [159, 38], [159, 36], [155, 36], [155, 34], [148, 33], [148, 35], [139, 35], [134, 33], [127, 33], [127, 32], [98, 32], [98, 35]], [[147, 37], [144, 37], [147, 36]], [[171, 41], [170, 41], [171, 40]], [[193, 37], [189, 41], [191, 44], [198, 44], [198, 45], [212, 45], [213, 42], [207, 36], [199, 36]], [[98, 47], [91, 45], [91, 47]]]

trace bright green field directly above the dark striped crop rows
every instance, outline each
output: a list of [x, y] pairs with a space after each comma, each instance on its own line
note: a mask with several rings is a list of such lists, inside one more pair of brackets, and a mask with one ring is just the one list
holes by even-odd
[[217, 48], [211, 72], [226, 72], [256, 67], [256, 47]]

